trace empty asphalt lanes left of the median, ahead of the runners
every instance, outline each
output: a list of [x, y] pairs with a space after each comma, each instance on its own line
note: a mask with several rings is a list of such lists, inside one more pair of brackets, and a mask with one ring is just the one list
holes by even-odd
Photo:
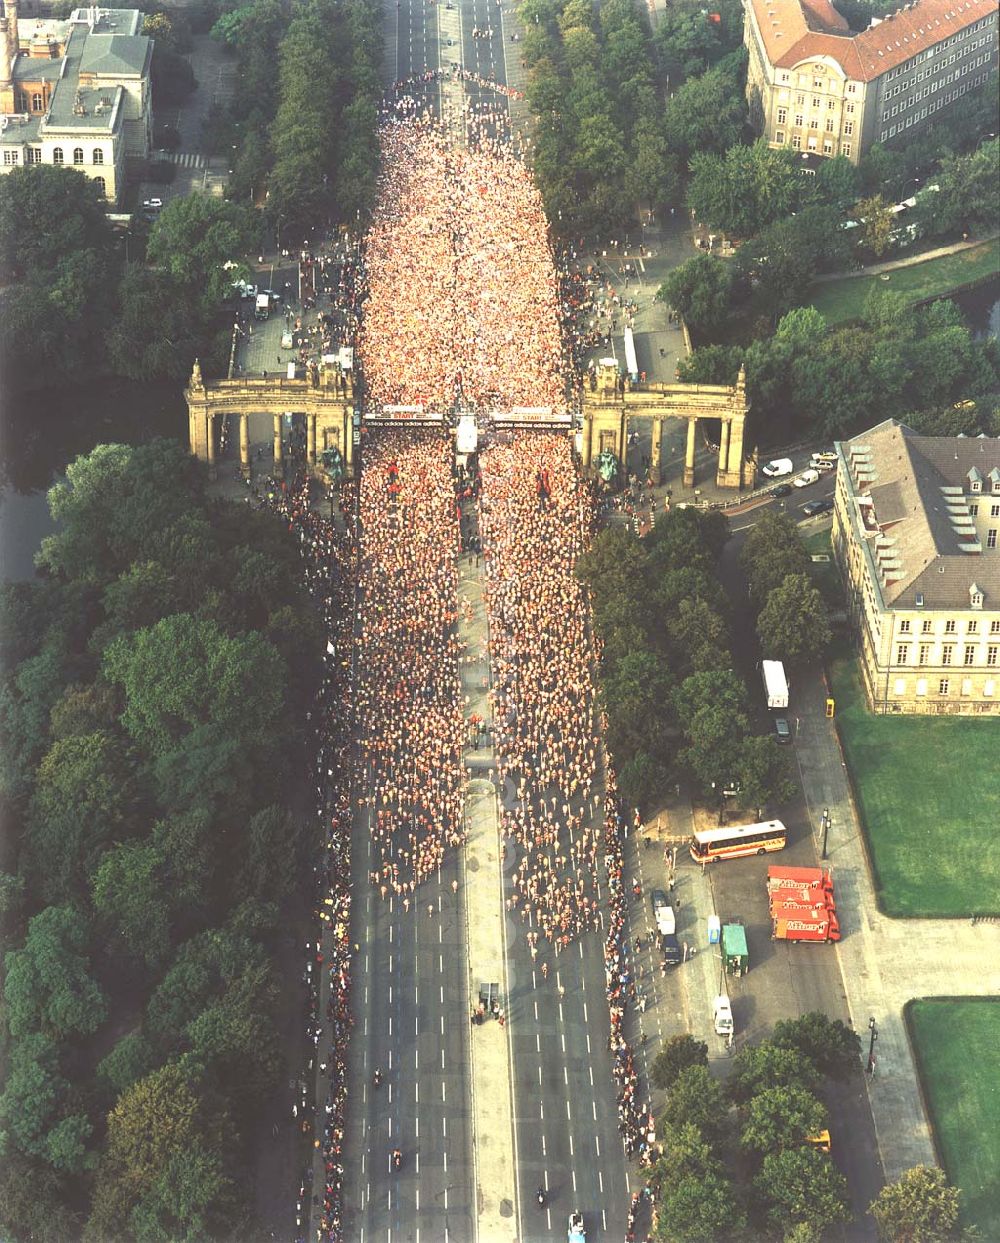
[[366, 884], [374, 854], [364, 809], [353, 856], [353, 935], [363, 950], [353, 981], [345, 1237], [463, 1243], [475, 1237], [475, 1180], [467, 953], [461, 892], [452, 892], [453, 880], [461, 890], [461, 860], [450, 851], [440, 881], [425, 881], [407, 911]]

